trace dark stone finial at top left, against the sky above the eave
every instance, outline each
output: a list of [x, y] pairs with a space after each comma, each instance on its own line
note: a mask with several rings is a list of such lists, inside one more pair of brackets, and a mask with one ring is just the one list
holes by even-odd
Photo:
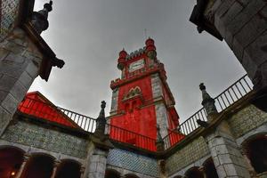
[[41, 11], [33, 12], [31, 23], [36, 29], [38, 34], [41, 34], [45, 29], [49, 27], [48, 22], [48, 12], [52, 12], [53, 1], [50, 1], [49, 4], [44, 4], [44, 8]]

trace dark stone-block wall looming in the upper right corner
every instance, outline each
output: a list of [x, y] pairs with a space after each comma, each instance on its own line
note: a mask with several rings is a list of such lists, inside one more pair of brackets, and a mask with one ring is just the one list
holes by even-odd
[[267, 86], [267, 2], [265, 0], [211, 0], [206, 20], [225, 42], [250, 77], [255, 88]]

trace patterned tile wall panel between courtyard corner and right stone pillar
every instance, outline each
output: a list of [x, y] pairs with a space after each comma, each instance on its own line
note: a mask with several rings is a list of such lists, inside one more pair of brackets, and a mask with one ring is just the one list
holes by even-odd
[[166, 171], [172, 175], [209, 154], [205, 139], [200, 136], [166, 159]]

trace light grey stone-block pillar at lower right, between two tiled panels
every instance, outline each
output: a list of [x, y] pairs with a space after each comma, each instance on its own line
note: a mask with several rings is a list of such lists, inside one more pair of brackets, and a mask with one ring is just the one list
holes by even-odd
[[250, 178], [246, 162], [226, 121], [218, 125], [214, 133], [207, 135], [206, 140], [220, 178]]

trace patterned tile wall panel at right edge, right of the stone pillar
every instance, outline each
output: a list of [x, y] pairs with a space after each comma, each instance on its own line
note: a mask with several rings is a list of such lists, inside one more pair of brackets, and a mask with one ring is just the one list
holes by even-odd
[[231, 133], [236, 138], [239, 138], [260, 125], [267, 123], [267, 113], [257, 109], [254, 105], [248, 105], [230, 117], [228, 123], [231, 126]]

